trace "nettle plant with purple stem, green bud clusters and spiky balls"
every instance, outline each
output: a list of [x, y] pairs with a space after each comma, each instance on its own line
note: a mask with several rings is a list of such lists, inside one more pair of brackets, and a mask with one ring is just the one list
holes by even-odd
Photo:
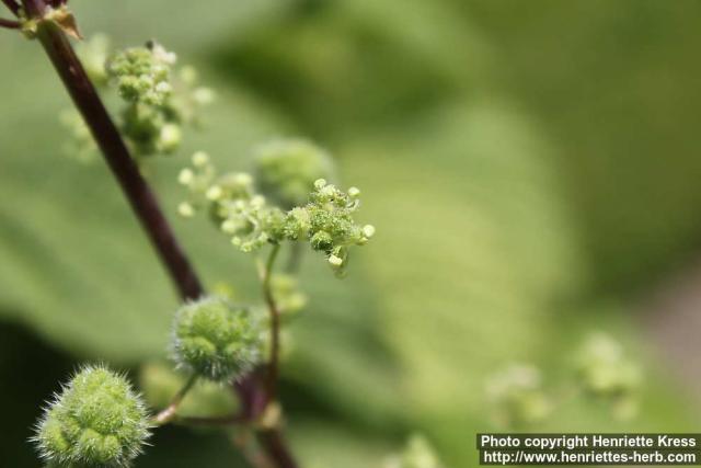
[[[176, 56], [156, 42], [111, 52], [108, 39], [97, 36], [80, 47], [81, 61], [68, 38], [80, 38], [80, 33], [67, 0], [2, 1], [16, 19], [0, 19], [0, 26], [37, 39], [72, 98], [76, 111], [61, 115], [74, 136], [67, 148], [80, 159], [100, 150], [182, 299], [169, 352], [185, 377], [159, 367], [146, 373], [161, 389], [180, 386], [165, 390], [161, 411], [147, 408], [126, 375], [105, 364], [87, 365], [64, 384], [36, 424], [33, 441], [42, 459], [48, 467], [127, 467], [153, 431], [179, 423], [237, 426], [244, 437], [235, 440], [251, 465], [296, 467], [281, 433], [277, 398], [281, 329], [306, 301], [297, 289], [296, 265], [309, 246], [337, 276], [346, 273], [353, 247], [375, 233], [371, 225], [356, 221], [360, 191], [330, 183], [331, 159], [302, 140], [260, 147], [253, 174], [220, 172], [207, 153], [196, 152], [179, 174], [185, 199], [177, 213], [203, 214], [232, 250], [255, 255], [264, 306], [207, 294], [142, 174], [148, 173], [147, 160], [153, 163], [154, 156], [179, 149], [183, 129], [197, 125], [198, 110], [212, 100], [212, 92], [197, 84], [194, 69], [179, 68]], [[114, 119], [103, 104], [111, 91], [120, 102]], [[297, 261], [276, 274], [285, 248]], [[227, 386], [235, 390], [238, 411], [223, 416], [181, 413], [186, 396], [216, 393]], [[412, 453], [423, 450], [423, 443], [414, 445]]]

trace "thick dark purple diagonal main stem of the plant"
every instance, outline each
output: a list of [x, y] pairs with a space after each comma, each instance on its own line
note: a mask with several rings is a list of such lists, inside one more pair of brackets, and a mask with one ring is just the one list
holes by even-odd
[[[12, 3], [11, 0], [3, 0], [3, 2], [5, 4]], [[46, 10], [44, 0], [23, 0], [23, 3], [26, 12], [32, 18], [42, 18]], [[204, 288], [197, 274], [177, 243], [156, 196], [141, 176], [117, 127], [112, 122], [66, 34], [51, 22], [43, 21], [39, 22], [38, 39], [60, 76], [76, 107], [78, 107], [85, 124], [89, 126], [133, 210], [164, 263], [180, 296], [183, 299], [200, 297], [204, 295]], [[265, 399], [260, 377], [257, 374], [252, 373], [242, 380], [242, 384], [237, 385], [235, 389], [241, 399], [246, 420], [253, 422], [262, 412], [261, 406], [255, 402]], [[249, 390], [244, 391], [244, 389]], [[268, 435], [266, 438], [271, 441], [262, 445], [268, 452], [271, 459], [274, 460], [278, 468], [296, 468], [297, 464], [283, 442], [279, 429], [267, 432], [273, 433], [274, 436]]]

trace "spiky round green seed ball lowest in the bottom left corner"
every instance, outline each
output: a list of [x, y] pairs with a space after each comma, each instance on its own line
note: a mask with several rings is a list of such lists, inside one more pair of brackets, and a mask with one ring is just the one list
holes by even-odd
[[126, 467], [149, 436], [141, 399], [123, 376], [85, 367], [46, 409], [34, 441], [49, 467]]

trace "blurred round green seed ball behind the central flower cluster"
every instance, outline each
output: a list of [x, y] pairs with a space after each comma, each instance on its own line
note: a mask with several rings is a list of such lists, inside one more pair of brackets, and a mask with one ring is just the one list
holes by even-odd
[[314, 181], [333, 179], [333, 162], [309, 141], [277, 140], [257, 148], [254, 175], [263, 195], [290, 209], [307, 203]]

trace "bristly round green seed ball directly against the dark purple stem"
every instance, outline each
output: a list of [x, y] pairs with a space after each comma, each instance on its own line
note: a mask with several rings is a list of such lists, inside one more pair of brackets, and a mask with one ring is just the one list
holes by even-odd
[[249, 309], [219, 297], [185, 304], [176, 313], [173, 353], [180, 366], [210, 380], [235, 379], [261, 359], [261, 330]]

